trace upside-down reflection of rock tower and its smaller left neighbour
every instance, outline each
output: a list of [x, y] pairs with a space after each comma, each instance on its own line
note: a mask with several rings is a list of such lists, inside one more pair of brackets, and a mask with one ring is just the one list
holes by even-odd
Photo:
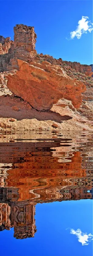
[[14, 227], [16, 239], [33, 237], [36, 232], [35, 205], [28, 202], [10, 205], [0, 204], [0, 231]]

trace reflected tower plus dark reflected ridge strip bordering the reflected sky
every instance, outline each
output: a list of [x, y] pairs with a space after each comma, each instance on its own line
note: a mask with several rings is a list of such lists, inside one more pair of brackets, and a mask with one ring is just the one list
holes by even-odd
[[[32, 193], [32, 191], [30, 192]], [[3, 201], [0, 204], [0, 230], [9, 230], [10, 227], [14, 227], [14, 237], [16, 239], [34, 237], [36, 233], [34, 218], [36, 203], [93, 199], [91, 186], [83, 188], [72, 186], [71, 188], [66, 187], [66, 189], [35, 189], [33, 190], [34, 200], [32, 199], [32, 201], [17, 202], [19, 195], [16, 200], [14, 195], [18, 195], [18, 189], [0, 188], [0, 201]], [[6, 201], [8, 204], [5, 203]]]

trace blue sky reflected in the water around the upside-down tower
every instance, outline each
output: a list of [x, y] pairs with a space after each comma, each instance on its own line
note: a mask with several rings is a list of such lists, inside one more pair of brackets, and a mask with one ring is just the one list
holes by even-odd
[[7, 256], [92, 256], [93, 243], [82, 246], [70, 229], [93, 234], [93, 201], [36, 205], [34, 238], [15, 239], [14, 228], [0, 232], [0, 253]]

